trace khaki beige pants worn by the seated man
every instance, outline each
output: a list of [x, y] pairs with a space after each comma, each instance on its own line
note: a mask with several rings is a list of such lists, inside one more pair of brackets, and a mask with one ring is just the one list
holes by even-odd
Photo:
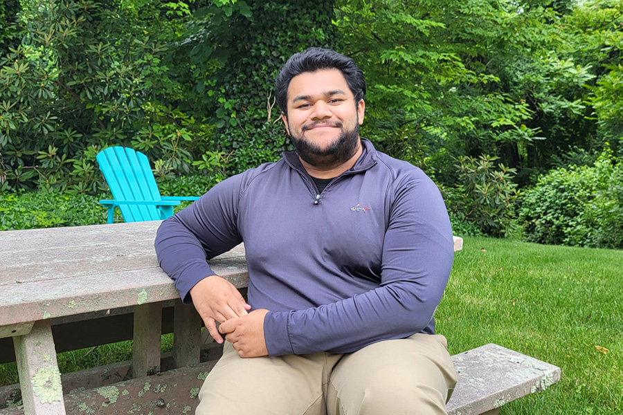
[[225, 342], [196, 414], [446, 414], [455, 383], [442, 335], [418, 333], [354, 353], [252, 359]]

